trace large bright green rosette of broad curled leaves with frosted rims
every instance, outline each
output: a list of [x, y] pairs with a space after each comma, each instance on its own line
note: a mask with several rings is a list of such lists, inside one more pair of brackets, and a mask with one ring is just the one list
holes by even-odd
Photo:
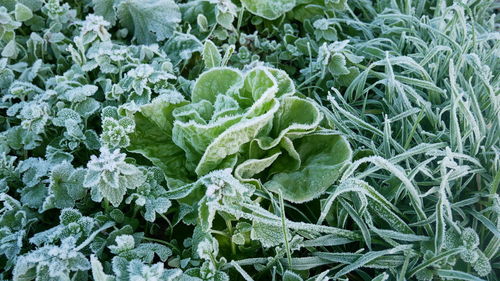
[[212, 68], [197, 79], [191, 101], [160, 96], [134, 118], [128, 149], [162, 168], [171, 188], [230, 168], [239, 180], [301, 203], [321, 195], [351, 159], [347, 141], [322, 127], [318, 105], [268, 67]]

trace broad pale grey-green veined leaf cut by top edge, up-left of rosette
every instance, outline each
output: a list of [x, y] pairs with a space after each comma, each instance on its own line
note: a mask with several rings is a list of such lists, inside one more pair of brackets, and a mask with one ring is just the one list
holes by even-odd
[[117, 6], [117, 15], [141, 44], [172, 36], [181, 21], [179, 7], [172, 0], [124, 0]]

